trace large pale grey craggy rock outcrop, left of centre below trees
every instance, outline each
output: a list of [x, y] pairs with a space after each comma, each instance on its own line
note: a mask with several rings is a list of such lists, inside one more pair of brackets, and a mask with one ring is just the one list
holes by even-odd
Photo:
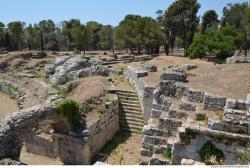
[[108, 74], [107, 67], [98, 65], [96, 60], [88, 60], [82, 56], [60, 57], [54, 63], [45, 66], [45, 77], [54, 85], [62, 85], [79, 77], [108, 76]]

